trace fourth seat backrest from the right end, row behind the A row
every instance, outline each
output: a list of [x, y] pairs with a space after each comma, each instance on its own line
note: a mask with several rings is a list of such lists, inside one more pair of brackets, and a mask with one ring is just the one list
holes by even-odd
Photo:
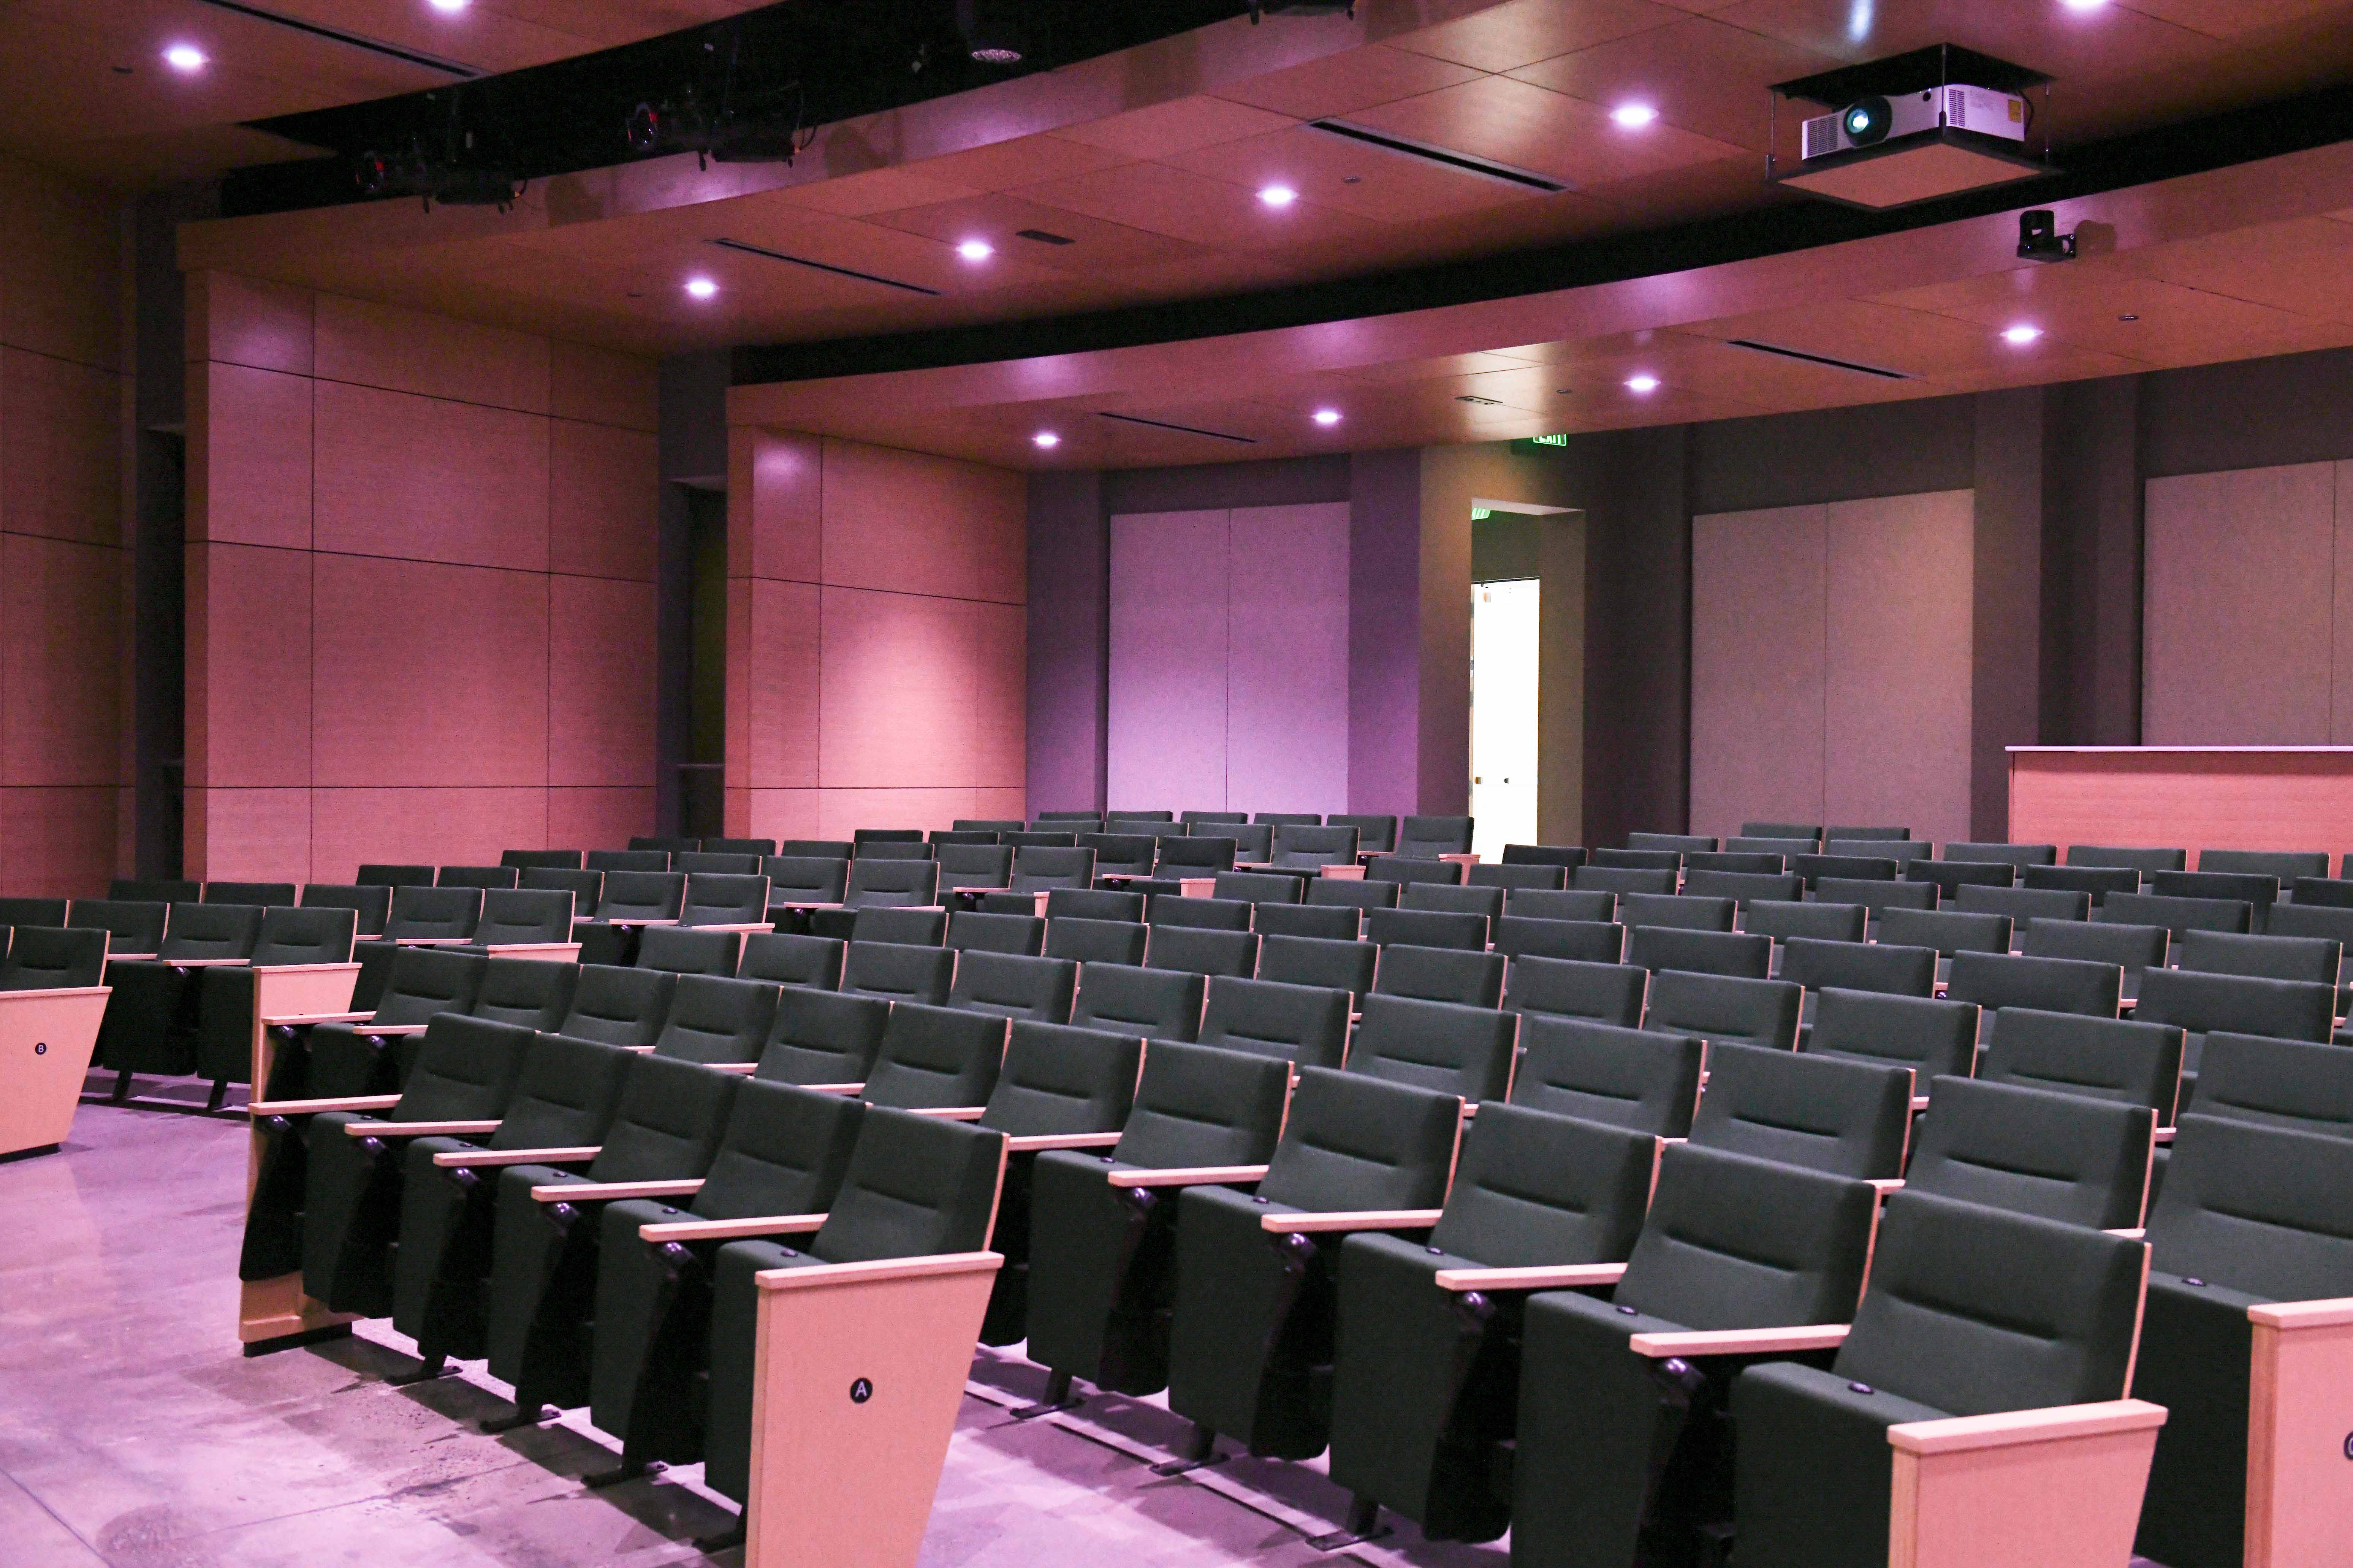
[[1292, 1208], [1438, 1208], [1459, 1126], [1457, 1095], [1301, 1067], [1259, 1197]]

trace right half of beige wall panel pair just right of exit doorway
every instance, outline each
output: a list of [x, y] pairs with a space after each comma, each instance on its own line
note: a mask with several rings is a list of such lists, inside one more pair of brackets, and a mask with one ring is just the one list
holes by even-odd
[[1969, 837], [1972, 491], [1828, 508], [1824, 820]]

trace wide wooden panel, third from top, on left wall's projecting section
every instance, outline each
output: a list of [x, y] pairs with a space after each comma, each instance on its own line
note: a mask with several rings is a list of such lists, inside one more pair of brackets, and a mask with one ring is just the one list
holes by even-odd
[[313, 788], [546, 788], [546, 576], [318, 555], [311, 644]]

